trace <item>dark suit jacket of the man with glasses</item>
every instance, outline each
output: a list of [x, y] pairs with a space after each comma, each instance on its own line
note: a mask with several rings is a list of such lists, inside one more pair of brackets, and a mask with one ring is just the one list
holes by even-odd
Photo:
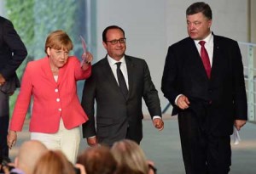
[[[108, 63], [107, 57], [92, 67], [85, 81], [82, 105], [89, 121], [83, 125], [84, 138], [97, 136], [99, 143], [112, 145], [126, 134], [139, 143], [143, 138], [142, 98], [151, 117], [160, 115], [160, 99], [143, 59], [125, 55], [129, 93], [125, 98]], [[96, 100], [96, 126], [94, 101]], [[129, 132], [127, 127], [129, 126]]]

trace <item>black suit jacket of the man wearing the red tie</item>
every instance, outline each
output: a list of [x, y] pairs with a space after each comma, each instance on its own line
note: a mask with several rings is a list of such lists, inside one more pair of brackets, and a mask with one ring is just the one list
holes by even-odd
[[235, 119], [247, 120], [247, 96], [238, 43], [223, 36], [213, 36], [211, 79], [201, 62], [195, 42], [187, 37], [173, 44], [166, 55], [162, 91], [173, 106], [172, 115], [180, 113], [175, 98], [184, 94], [192, 111], [200, 119], [207, 113], [209, 130], [216, 135], [230, 135]]

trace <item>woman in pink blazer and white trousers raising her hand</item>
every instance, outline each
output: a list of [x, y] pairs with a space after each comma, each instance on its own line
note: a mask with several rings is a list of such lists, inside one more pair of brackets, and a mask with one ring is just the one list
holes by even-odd
[[84, 64], [69, 56], [73, 42], [64, 31], [53, 31], [45, 42], [47, 56], [26, 65], [20, 93], [9, 126], [11, 149], [22, 130], [31, 98], [29, 126], [32, 139], [48, 149], [61, 149], [73, 163], [79, 150], [79, 126], [88, 120], [77, 95], [77, 81], [90, 76], [92, 55], [83, 55]]

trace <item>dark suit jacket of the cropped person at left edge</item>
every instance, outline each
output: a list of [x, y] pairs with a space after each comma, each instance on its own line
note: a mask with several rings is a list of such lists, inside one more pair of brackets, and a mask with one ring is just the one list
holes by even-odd
[[15, 87], [20, 87], [15, 70], [26, 58], [26, 54], [26, 47], [15, 31], [14, 25], [0, 16], [0, 74], [7, 83], [15, 81]]

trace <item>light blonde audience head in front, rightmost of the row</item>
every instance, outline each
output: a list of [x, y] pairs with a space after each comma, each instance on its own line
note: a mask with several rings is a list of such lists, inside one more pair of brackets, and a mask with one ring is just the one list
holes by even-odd
[[[113, 143], [111, 149], [115, 160], [118, 162], [119, 170], [124, 173], [148, 174], [148, 162], [143, 149], [132, 140], [121, 140]], [[121, 172], [119, 172], [121, 173]]]

